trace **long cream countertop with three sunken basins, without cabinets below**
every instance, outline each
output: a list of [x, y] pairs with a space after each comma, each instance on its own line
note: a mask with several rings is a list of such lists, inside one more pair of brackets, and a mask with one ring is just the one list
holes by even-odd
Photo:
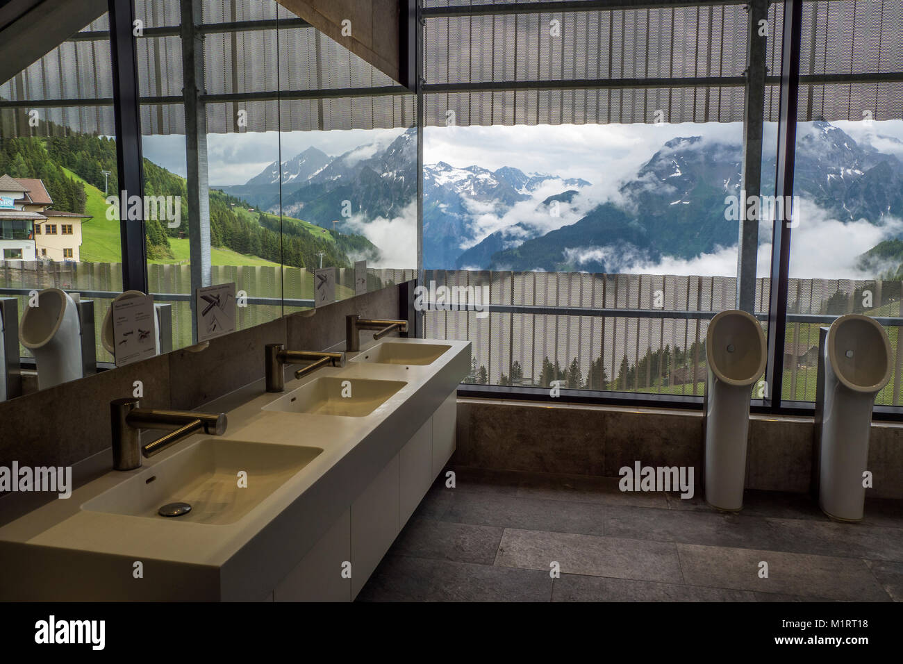
[[[288, 369], [283, 394], [257, 379], [198, 408], [226, 413], [226, 435], [192, 435], [134, 471], [98, 454], [110, 470], [0, 527], [0, 601], [261, 599], [470, 370], [470, 341], [393, 338], [357, 356], [381, 345], [377, 357], [435, 359]], [[191, 511], [157, 514], [176, 501]]]

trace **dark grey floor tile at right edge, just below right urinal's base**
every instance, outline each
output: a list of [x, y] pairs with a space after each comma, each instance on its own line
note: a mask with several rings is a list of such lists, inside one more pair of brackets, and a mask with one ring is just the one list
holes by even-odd
[[776, 551], [903, 561], [903, 528], [800, 519], [765, 520], [772, 531], [772, 544], [767, 548]]

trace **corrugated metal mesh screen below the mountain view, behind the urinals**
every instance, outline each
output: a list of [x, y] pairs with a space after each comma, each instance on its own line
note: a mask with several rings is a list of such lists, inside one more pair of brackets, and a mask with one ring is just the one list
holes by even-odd
[[[431, 281], [436, 287], [489, 286], [488, 316], [424, 313], [424, 336], [473, 343], [478, 370], [468, 382], [480, 382], [485, 367], [489, 385], [548, 388], [554, 379], [563, 388], [696, 396], [703, 394], [709, 319], [733, 308], [736, 296], [736, 278], [727, 276], [432, 270], [425, 273], [425, 283]], [[763, 326], [769, 281], [756, 281]], [[903, 316], [898, 281], [790, 279], [784, 399], [815, 400], [818, 328], [842, 313], [863, 313], [866, 288], [874, 311]], [[569, 311], [546, 313], [544, 307]], [[899, 365], [903, 340], [896, 328], [888, 332]], [[903, 367], [897, 366], [877, 403], [900, 405], [901, 382]], [[757, 390], [754, 397], [763, 396], [761, 385]]]

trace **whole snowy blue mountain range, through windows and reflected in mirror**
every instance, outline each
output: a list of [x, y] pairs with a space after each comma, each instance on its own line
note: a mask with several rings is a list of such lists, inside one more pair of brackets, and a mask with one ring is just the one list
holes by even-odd
[[[741, 160], [741, 145], [674, 138], [602, 202], [590, 201], [584, 180], [512, 166], [426, 164], [424, 267], [613, 272], [637, 260], [731, 247], [739, 221], [725, 219], [724, 199], [740, 193]], [[763, 160], [763, 192], [774, 191], [775, 166], [773, 155]], [[402, 216], [416, 196], [416, 132], [338, 156], [311, 147], [281, 169], [269, 164], [244, 185], [219, 188], [277, 212], [280, 173], [284, 214], [330, 228], [349, 201], [365, 224]], [[795, 193], [835, 219], [881, 224], [903, 218], [903, 164], [816, 121], [797, 136]], [[570, 216], [552, 219], [560, 209]]]

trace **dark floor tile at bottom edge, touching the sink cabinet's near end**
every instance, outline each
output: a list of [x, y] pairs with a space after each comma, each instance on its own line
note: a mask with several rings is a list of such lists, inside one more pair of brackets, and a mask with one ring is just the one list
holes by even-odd
[[360, 602], [548, 602], [544, 572], [447, 560], [386, 556], [358, 594]]

